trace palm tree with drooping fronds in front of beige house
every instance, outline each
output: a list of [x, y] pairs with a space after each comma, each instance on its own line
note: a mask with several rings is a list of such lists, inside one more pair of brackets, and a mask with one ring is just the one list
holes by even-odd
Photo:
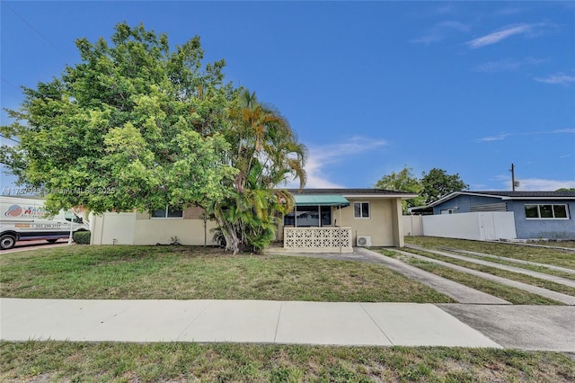
[[233, 124], [225, 133], [232, 145], [232, 165], [239, 170], [234, 193], [210, 209], [217, 219], [217, 235], [226, 250], [236, 254], [250, 248], [259, 252], [273, 240], [276, 217], [293, 209], [294, 198], [275, 188], [288, 180], [305, 185], [305, 146], [279, 111], [257, 101], [255, 93], [242, 90], [230, 110]]

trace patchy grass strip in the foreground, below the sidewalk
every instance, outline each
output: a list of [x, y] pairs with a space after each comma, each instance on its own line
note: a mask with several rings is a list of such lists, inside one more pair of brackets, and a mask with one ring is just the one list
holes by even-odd
[[446, 347], [0, 343], [2, 381], [572, 382], [559, 352]]

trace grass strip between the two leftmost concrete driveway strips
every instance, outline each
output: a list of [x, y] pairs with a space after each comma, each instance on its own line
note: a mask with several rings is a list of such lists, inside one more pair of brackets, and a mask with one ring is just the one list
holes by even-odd
[[505, 286], [498, 282], [484, 280], [467, 272], [458, 272], [447, 266], [431, 263], [430, 261], [422, 261], [389, 250], [382, 252], [382, 254], [392, 256], [395, 259], [411, 264], [411, 266], [415, 266], [426, 272], [431, 272], [447, 280], [456, 281], [472, 289], [477, 289], [494, 297], [505, 299], [514, 305], [562, 305], [561, 302], [557, 302], [556, 300], [544, 298], [522, 289]]

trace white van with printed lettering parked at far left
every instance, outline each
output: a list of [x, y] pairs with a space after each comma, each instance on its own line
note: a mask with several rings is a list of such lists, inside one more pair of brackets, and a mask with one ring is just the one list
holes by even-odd
[[73, 232], [89, 230], [84, 219], [72, 211], [60, 210], [56, 216], [46, 215], [45, 200], [21, 197], [0, 197], [0, 248], [10, 249], [16, 241], [46, 239], [56, 242]]

